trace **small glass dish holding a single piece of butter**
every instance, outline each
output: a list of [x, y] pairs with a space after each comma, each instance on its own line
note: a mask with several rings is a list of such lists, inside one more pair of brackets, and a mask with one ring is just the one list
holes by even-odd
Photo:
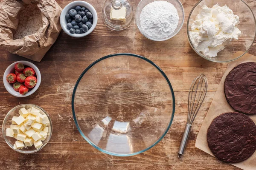
[[106, 0], [102, 9], [102, 19], [108, 28], [116, 31], [128, 28], [134, 11], [128, 0]]

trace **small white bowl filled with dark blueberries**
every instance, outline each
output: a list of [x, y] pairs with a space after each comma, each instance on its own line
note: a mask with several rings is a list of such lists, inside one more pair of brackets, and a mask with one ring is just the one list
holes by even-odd
[[98, 22], [98, 15], [90, 3], [74, 1], [62, 10], [60, 22], [66, 34], [80, 38], [94, 30]]

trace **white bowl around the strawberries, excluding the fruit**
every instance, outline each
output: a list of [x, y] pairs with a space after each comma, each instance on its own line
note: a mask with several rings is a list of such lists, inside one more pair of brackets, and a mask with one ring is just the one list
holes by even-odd
[[[15, 73], [15, 64], [16, 63], [22, 63], [26, 68], [32, 68], [35, 71], [35, 77], [37, 79], [36, 85], [34, 88], [31, 88], [26, 94], [20, 94], [18, 91], [15, 91], [13, 88], [13, 84], [7, 82], [6, 77], [8, 74], [10, 73]], [[8, 68], [6, 68], [6, 71], [3, 74], [3, 85], [6, 88], [6, 90], [12, 94], [13, 96], [16, 97], [27, 97], [30, 96], [31, 94], [35, 93], [35, 91], [37, 91], [37, 89], [39, 88], [41, 84], [41, 73], [39, 71], [39, 69], [37, 68], [37, 66], [35, 66], [32, 62], [28, 62], [28, 61], [17, 61], [12, 63], [11, 65], [9, 65]]]

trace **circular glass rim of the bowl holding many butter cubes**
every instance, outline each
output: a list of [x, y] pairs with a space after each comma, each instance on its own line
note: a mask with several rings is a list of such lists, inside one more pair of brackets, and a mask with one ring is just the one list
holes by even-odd
[[[7, 119], [7, 117], [8, 117], [15, 109], [17, 109], [17, 108], [19, 108], [19, 107], [21, 107], [21, 106], [23, 106], [23, 105], [24, 105], [24, 106], [34, 106], [34, 107], [36, 107], [36, 108], [41, 109], [41, 110], [46, 114], [46, 116], [48, 117], [48, 119], [49, 119], [49, 124], [50, 124], [49, 127], [51, 127], [51, 128], [50, 128], [50, 132], [49, 132], [49, 138], [48, 138], [48, 140], [47, 140], [41, 147], [39, 147], [38, 149], [31, 150], [31, 151], [23, 151], [23, 150], [19, 150], [19, 149], [14, 149], [13, 146], [11, 146], [11, 145], [9, 144], [8, 139], [7, 139], [7, 136], [4, 135], [4, 126], [6, 125], [6, 119]], [[2, 133], [3, 133], [3, 138], [4, 138], [5, 142], [6, 142], [6, 144], [8, 144], [8, 146], [11, 147], [13, 150], [15, 150], [15, 151], [17, 151], [17, 152], [19, 152], [19, 153], [25, 153], [25, 154], [36, 153], [36, 152], [38, 152], [39, 150], [43, 149], [43, 148], [48, 144], [48, 142], [50, 141], [50, 139], [51, 139], [51, 137], [52, 137], [52, 120], [51, 120], [49, 114], [47, 113], [47, 111], [45, 111], [43, 108], [41, 108], [41, 107], [38, 106], [38, 105], [26, 104], [26, 103], [25, 103], [25, 104], [21, 104], [21, 105], [17, 105], [17, 106], [15, 106], [14, 108], [12, 108], [12, 109], [6, 114], [6, 116], [4, 117], [4, 119], [3, 119], [3, 124], [2, 124]], [[48, 136], [47, 136], [47, 137], [48, 137]]]

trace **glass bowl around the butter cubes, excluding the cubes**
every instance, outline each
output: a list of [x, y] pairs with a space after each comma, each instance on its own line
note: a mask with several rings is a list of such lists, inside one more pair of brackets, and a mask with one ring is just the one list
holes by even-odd
[[[19, 111], [20, 111], [21, 108], [25, 108], [27, 110], [27, 109], [32, 108], [32, 107], [40, 110], [41, 114], [43, 114], [43, 115], [46, 114], [48, 119], [49, 119], [49, 123], [47, 125], [47, 127], [49, 128], [48, 129], [47, 138], [44, 141], [42, 141], [43, 145], [40, 148], [38, 148], [38, 149], [36, 149], [34, 145], [32, 147], [27, 147], [27, 148], [23, 147], [23, 149], [18, 149], [18, 150], [14, 149], [13, 145], [15, 144], [17, 139], [9, 137], [9, 136], [6, 136], [6, 129], [9, 128], [10, 125], [12, 124], [12, 117], [13, 116], [20, 116]], [[32, 105], [32, 104], [23, 104], [23, 105], [18, 105], [15, 108], [12, 108], [12, 110], [10, 110], [6, 114], [6, 116], [5, 116], [4, 120], [3, 120], [2, 131], [3, 131], [3, 137], [4, 137], [5, 141], [6, 141], [6, 143], [12, 149], [14, 149], [15, 151], [20, 152], [20, 153], [35, 153], [35, 152], [41, 150], [49, 142], [49, 140], [51, 139], [51, 136], [52, 136], [52, 121], [51, 121], [48, 113], [46, 111], [44, 111], [44, 109], [40, 108], [39, 106]]]

